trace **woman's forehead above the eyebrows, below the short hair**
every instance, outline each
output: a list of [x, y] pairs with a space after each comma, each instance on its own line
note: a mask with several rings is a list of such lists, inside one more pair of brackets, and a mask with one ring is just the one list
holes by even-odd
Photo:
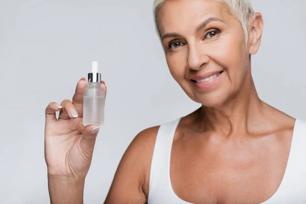
[[215, 0], [167, 0], [158, 13], [161, 35], [168, 32], [195, 28], [209, 17], [217, 17], [226, 22], [227, 7]]

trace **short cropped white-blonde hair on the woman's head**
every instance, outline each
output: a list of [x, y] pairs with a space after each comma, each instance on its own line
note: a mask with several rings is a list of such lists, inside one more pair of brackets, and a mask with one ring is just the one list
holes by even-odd
[[[252, 20], [252, 16], [254, 14], [254, 10], [250, 0], [215, 0], [215, 1], [224, 3], [228, 7], [228, 9], [232, 12], [233, 16], [240, 21], [242, 29], [245, 33], [245, 40], [247, 41], [248, 24]], [[153, 4], [155, 27], [159, 37], [161, 37], [160, 36], [161, 33], [157, 21], [157, 15], [161, 6], [165, 2], [166, 0], [154, 0]]]

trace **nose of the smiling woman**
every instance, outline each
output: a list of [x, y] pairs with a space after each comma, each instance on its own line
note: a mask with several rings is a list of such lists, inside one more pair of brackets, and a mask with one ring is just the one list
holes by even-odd
[[207, 56], [201, 46], [189, 45], [189, 53], [187, 59], [187, 66], [193, 70], [199, 70], [202, 65], [209, 62], [210, 58]]

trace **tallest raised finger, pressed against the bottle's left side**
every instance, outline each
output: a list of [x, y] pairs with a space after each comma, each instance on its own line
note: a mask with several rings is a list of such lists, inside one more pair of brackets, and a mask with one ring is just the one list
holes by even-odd
[[72, 104], [79, 115], [83, 116], [83, 99], [84, 99], [84, 89], [87, 87], [87, 82], [85, 78], [82, 78], [75, 88], [74, 95], [72, 97]]

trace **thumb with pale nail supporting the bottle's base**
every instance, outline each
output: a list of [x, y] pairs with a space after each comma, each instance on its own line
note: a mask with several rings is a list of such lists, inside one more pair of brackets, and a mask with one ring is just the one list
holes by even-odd
[[95, 144], [96, 137], [100, 130], [100, 125], [87, 125], [83, 130], [83, 137], [81, 139], [81, 148], [86, 157], [92, 157], [92, 152]]

